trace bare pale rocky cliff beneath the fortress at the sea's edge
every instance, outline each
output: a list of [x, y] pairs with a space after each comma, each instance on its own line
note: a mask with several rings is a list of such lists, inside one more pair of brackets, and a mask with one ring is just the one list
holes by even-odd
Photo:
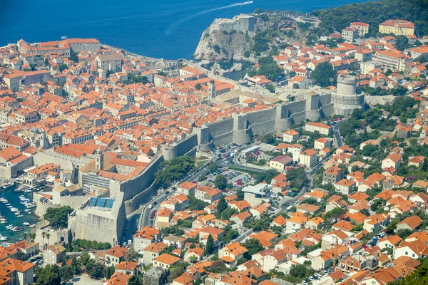
[[212, 31], [208, 28], [200, 38], [195, 59], [211, 62], [251, 61], [245, 51], [251, 50], [250, 36], [233, 31]]

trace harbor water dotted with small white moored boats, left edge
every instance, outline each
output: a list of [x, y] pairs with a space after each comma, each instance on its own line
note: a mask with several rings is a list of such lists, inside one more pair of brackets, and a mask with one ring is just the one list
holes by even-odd
[[34, 215], [33, 191], [38, 187], [24, 187], [4, 182], [0, 189], [0, 245], [19, 242], [31, 233], [39, 218]]

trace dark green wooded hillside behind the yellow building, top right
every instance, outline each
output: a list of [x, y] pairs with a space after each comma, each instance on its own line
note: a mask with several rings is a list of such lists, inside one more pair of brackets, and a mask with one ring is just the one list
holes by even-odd
[[388, 19], [404, 19], [415, 24], [417, 36], [428, 35], [428, 0], [380, 0], [348, 4], [337, 8], [312, 11], [322, 26], [342, 31], [355, 21], [370, 24], [370, 35], [376, 35], [379, 24]]

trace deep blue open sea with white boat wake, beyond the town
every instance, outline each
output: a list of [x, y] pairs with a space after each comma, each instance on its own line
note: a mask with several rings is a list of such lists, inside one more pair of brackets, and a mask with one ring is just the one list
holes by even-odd
[[102, 43], [156, 58], [193, 58], [215, 18], [256, 8], [310, 12], [366, 0], [1, 0], [0, 46], [61, 36]]

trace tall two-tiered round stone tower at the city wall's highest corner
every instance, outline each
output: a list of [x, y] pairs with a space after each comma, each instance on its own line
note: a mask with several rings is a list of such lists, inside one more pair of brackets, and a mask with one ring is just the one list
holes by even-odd
[[332, 92], [333, 113], [351, 115], [356, 108], [364, 108], [364, 92], [357, 94], [355, 76], [339, 76], [337, 88]]

